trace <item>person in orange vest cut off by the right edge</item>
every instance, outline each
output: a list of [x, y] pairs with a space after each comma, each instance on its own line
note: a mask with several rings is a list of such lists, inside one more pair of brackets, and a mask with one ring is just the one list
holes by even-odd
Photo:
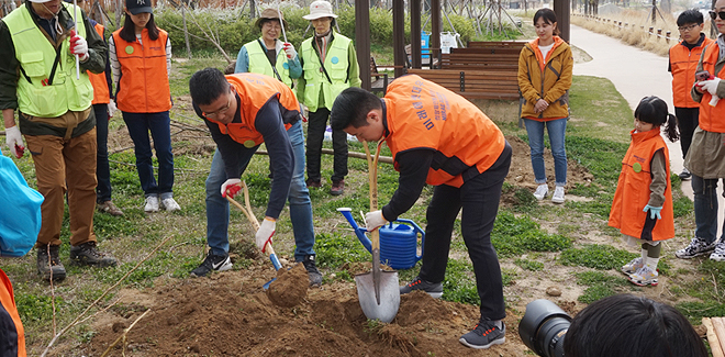
[[702, 52], [695, 69], [699, 78], [690, 94], [700, 103], [699, 126], [684, 158], [684, 167], [692, 172], [695, 236], [674, 255], [689, 259], [710, 254], [711, 260], [725, 261], [725, 239], [717, 239], [716, 192], [717, 181], [725, 178], [725, 100], [720, 99], [725, 97], [725, 0], [715, 2], [710, 16], [720, 34]]

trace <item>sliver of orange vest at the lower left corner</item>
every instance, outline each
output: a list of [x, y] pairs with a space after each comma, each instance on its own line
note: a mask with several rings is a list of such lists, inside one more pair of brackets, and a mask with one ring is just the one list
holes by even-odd
[[7, 337], [0, 344], [0, 356], [25, 357], [25, 331], [18, 314], [12, 285], [2, 269], [0, 269], [0, 320], [4, 328], [0, 335]]

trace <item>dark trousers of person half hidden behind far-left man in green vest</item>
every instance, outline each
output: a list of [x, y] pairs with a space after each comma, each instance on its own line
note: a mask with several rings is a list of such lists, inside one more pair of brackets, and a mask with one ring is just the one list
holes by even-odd
[[109, 104], [93, 104], [96, 113], [96, 202], [103, 203], [111, 200], [111, 168], [109, 167]]

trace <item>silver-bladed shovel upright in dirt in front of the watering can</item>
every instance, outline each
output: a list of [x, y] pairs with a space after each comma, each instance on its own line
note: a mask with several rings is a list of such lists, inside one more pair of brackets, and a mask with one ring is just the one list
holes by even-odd
[[[365, 143], [365, 154], [368, 158], [370, 179], [370, 211], [378, 210], [378, 157], [380, 156], [378, 143], [375, 160], [370, 159], [370, 149]], [[357, 298], [360, 301], [362, 313], [370, 320], [380, 320], [389, 323], [398, 314], [400, 308], [400, 290], [398, 288], [398, 272], [380, 270], [380, 232], [370, 232], [372, 271], [355, 276]]]

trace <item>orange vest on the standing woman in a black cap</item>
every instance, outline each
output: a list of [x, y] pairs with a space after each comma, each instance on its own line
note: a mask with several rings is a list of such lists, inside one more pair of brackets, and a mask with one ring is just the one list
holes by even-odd
[[148, 30], [141, 33], [141, 41], [126, 42], [113, 33], [115, 54], [121, 64], [115, 101], [119, 110], [130, 113], [158, 113], [171, 109], [171, 89], [166, 69], [166, 40], [168, 34], [158, 30], [158, 38], [152, 41]]

